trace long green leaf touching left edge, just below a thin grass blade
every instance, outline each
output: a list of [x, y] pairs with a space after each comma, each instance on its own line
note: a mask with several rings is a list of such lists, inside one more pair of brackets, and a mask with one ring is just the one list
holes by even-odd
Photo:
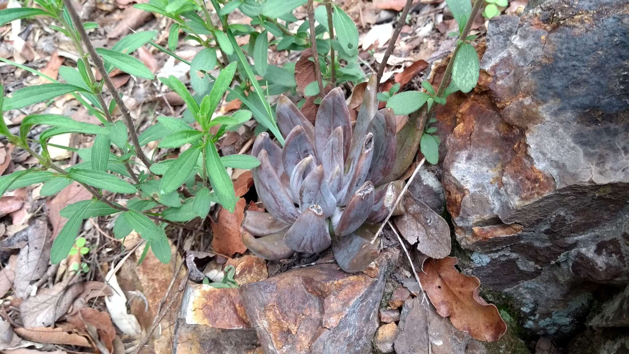
[[15, 110], [50, 100], [70, 92], [87, 92], [79, 86], [64, 83], [40, 84], [18, 89], [11, 97], [4, 98], [3, 111]]

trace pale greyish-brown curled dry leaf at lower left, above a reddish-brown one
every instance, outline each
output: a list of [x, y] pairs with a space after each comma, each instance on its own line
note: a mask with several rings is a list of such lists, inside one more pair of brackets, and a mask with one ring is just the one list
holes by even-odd
[[48, 327], [64, 316], [72, 302], [83, 292], [84, 283], [69, 285], [72, 277], [56, 283], [52, 288], [40, 289], [19, 305], [19, 316], [25, 327]]

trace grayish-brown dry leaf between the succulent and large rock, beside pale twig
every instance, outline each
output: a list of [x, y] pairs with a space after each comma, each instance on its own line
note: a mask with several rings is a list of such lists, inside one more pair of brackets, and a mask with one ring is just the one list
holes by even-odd
[[395, 218], [399, 233], [410, 244], [430, 258], [443, 258], [450, 254], [450, 226], [428, 205], [406, 193], [406, 212]]

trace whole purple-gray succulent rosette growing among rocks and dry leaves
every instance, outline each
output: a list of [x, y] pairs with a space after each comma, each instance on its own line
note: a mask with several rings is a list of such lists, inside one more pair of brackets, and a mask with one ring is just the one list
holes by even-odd
[[389, 214], [400, 189], [395, 182], [378, 186], [395, 161], [396, 120], [392, 110], [377, 110], [376, 84], [371, 77], [353, 128], [340, 88], [323, 98], [315, 125], [281, 96], [277, 125], [286, 144], [279, 147], [266, 133], [253, 144], [260, 160], [253, 183], [267, 210], [245, 214], [243, 242], [253, 253], [282, 260], [331, 245], [349, 272], [376, 258], [369, 223]]

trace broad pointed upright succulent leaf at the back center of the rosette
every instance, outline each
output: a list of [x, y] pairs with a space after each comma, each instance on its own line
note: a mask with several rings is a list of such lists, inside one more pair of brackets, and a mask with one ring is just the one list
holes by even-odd
[[341, 88], [334, 88], [326, 94], [316, 112], [315, 146], [319, 156], [323, 154], [323, 147], [330, 139], [330, 134], [337, 128], [343, 129], [343, 161], [347, 159], [352, 137], [352, 122], [350, 111], [345, 103], [345, 96]]

